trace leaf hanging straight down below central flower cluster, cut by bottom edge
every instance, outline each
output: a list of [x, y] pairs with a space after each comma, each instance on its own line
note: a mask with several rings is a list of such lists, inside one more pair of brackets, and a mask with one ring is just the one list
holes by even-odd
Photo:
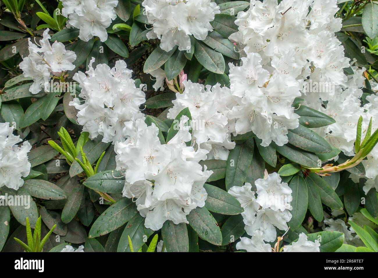
[[174, 224], [168, 220], [161, 228], [167, 252], [189, 252], [189, 237], [185, 223]]

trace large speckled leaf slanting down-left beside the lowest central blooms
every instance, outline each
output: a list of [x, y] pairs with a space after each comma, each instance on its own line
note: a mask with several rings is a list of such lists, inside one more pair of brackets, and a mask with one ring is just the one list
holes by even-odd
[[96, 219], [89, 231], [89, 237], [96, 238], [114, 231], [129, 221], [136, 213], [138, 210], [131, 199], [119, 199]]

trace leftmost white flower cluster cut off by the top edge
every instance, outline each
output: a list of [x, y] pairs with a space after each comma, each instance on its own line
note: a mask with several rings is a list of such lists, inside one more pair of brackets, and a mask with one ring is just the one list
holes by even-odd
[[114, 8], [118, 0], [62, 0], [62, 15], [68, 17], [67, 27], [80, 29], [79, 38], [87, 42], [93, 36], [105, 42], [106, 28], [112, 24], [117, 14]]

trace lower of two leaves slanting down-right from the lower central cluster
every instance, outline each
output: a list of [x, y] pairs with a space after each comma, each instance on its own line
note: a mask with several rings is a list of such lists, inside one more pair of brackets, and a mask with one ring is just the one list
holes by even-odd
[[214, 245], [222, 245], [222, 233], [217, 221], [205, 207], [195, 208], [186, 218], [201, 239]]

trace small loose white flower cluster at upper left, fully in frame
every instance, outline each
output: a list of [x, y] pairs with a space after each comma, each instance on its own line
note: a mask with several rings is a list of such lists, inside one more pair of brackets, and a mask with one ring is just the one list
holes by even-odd
[[33, 94], [39, 93], [42, 87], [45, 92], [50, 92], [51, 75], [60, 76], [62, 72], [75, 68], [72, 64], [76, 60], [74, 51], [66, 50], [61, 42], [56, 41], [50, 45], [49, 31], [47, 28], [43, 32], [43, 38], [39, 41], [39, 45], [34, 44], [28, 38], [29, 55], [20, 63], [23, 76], [31, 77], [34, 81], [29, 88], [29, 92]]

